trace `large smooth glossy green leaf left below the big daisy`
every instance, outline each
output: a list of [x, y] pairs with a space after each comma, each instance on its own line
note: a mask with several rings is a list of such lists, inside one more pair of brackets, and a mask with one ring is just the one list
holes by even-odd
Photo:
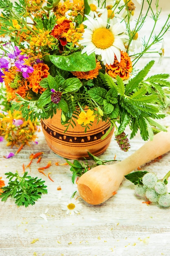
[[67, 56], [50, 55], [49, 58], [61, 70], [87, 72], [96, 67], [95, 53], [87, 55], [82, 52], [74, 52]]

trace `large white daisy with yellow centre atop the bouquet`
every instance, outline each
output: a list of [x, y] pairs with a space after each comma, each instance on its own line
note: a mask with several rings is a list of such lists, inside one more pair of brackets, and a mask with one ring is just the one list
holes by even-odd
[[124, 34], [125, 29], [119, 22], [113, 23], [110, 20], [109, 26], [107, 23], [108, 13], [105, 9], [104, 13], [95, 19], [86, 15], [87, 20], [84, 25], [87, 28], [84, 31], [80, 44], [85, 46], [82, 50], [83, 53], [90, 55], [95, 52], [97, 55], [102, 56], [104, 65], [112, 65], [115, 56], [120, 62], [120, 50], [125, 51], [124, 40], [127, 36]]

